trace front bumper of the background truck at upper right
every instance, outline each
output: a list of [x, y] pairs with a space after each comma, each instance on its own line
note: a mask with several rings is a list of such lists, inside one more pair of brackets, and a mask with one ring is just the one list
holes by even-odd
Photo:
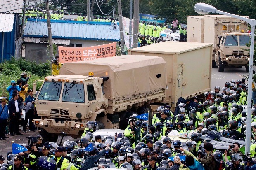
[[246, 65], [249, 62], [249, 56], [224, 56], [221, 61], [230, 65]]

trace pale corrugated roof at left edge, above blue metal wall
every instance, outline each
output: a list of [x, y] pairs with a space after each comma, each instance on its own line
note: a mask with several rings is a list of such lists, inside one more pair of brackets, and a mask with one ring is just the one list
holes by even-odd
[[14, 23], [14, 14], [0, 13], [0, 32], [12, 31], [13, 23]]

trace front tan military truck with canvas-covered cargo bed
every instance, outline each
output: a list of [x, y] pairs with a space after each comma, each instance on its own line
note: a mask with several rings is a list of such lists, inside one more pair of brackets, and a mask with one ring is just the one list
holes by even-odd
[[41, 119], [33, 123], [51, 141], [61, 131], [81, 137], [88, 121], [96, 120], [100, 128], [126, 128], [130, 115], [149, 112], [151, 117], [150, 103], [163, 100], [165, 70], [166, 62], [156, 56], [65, 63], [59, 76], [45, 77], [36, 97]]

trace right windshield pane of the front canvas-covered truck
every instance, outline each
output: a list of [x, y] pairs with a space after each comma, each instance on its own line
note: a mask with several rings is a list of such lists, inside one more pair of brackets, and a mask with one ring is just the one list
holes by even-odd
[[85, 102], [85, 91], [83, 84], [77, 83], [65, 83], [63, 94], [62, 94], [63, 102], [77, 102], [84, 103]]

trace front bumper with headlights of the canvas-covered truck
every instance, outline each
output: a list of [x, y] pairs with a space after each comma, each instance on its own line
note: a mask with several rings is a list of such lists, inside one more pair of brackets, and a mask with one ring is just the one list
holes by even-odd
[[79, 131], [84, 131], [86, 123], [66, 120], [64, 122], [55, 121], [54, 119], [33, 119], [33, 123], [38, 128], [43, 128], [48, 133], [61, 133], [68, 135], [78, 135]]

